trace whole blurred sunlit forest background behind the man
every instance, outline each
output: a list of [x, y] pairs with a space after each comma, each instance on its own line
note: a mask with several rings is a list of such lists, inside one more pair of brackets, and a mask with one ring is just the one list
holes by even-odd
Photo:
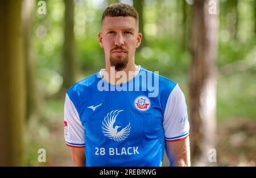
[[255, 166], [255, 0], [1, 1], [0, 165], [72, 165], [65, 91], [105, 68], [97, 34], [114, 2], [139, 13], [135, 63], [185, 94], [192, 165]]

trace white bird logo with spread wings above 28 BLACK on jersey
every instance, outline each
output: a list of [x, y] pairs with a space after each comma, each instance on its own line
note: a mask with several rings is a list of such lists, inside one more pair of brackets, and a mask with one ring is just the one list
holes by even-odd
[[102, 121], [102, 132], [105, 136], [108, 138], [115, 140], [117, 142], [120, 142], [122, 140], [125, 140], [129, 135], [131, 131], [130, 122], [129, 124], [124, 127], [121, 131], [117, 131], [117, 129], [121, 126], [115, 126], [115, 118], [117, 118], [117, 115], [123, 110], [113, 110], [110, 113], [108, 113], [104, 117], [104, 121]]

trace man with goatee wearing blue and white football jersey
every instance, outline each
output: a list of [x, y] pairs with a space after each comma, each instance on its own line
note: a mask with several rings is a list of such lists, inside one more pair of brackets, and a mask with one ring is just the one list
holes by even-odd
[[65, 98], [64, 135], [73, 164], [163, 166], [166, 148], [170, 165], [189, 166], [184, 94], [175, 82], [135, 65], [142, 40], [137, 11], [114, 3], [101, 27], [106, 68], [77, 82]]

